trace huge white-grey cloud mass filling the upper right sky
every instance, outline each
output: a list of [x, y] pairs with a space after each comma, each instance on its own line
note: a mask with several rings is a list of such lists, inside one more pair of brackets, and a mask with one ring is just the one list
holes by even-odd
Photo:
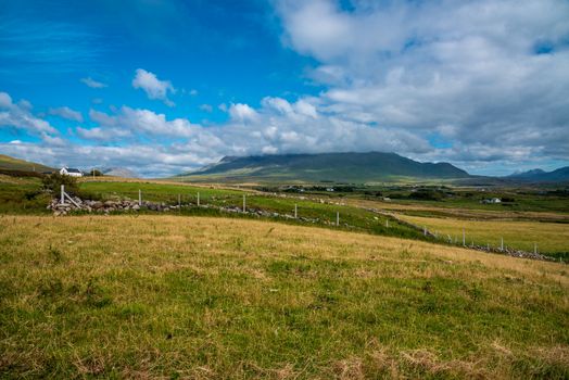
[[[439, 136], [455, 163], [569, 160], [569, 3], [352, 5], [277, 3], [286, 43], [319, 62], [309, 73], [327, 86], [313, 102], [319, 113]], [[423, 157], [443, 150], [431, 151]]]

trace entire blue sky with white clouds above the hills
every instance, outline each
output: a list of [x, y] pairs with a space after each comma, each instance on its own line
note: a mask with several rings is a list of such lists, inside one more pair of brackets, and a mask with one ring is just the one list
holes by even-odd
[[0, 0], [0, 153], [144, 176], [224, 155], [569, 164], [567, 0]]

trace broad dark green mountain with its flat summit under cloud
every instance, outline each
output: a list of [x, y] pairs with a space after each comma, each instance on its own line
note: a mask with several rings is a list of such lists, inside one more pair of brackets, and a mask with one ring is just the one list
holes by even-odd
[[219, 181], [371, 182], [470, 176], [448, 163], [420, 163], [395, 153], [370, 152], [226, 156], [217, 164], [184, 177], [190, 180]]

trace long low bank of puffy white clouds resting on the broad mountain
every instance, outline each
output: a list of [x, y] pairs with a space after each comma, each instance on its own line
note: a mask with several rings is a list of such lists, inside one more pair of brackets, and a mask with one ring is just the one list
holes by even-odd
[[78, 128], [77, 135], [99, 141], [151, 139], [164, 144], [175, 141], [194, 156], [215, 157], [214, 161], [224, 155], [429, 150], [425, 139], [404, 130], [320, 115], [311, 101], [306, 98], [291, 103], [282, 98], [265, 98], [257, 110], [243, 103], [232, 104], [229, 123], [216, 127], [204, 127], [186, 118], [168, 119], [164, 114], [128, 106], [114, 114], [91, 110], [90, 118], [98, 126], [89, 130]]

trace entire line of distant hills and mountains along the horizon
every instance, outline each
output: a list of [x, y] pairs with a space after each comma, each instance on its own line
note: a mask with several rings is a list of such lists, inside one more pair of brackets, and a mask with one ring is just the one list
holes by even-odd
[[[0, 154], [0, 170], [51, 172], [53, 168]], [[117, 177], [138, 177], [132, 170], [102, 170]], [[188, 181], [218, 182], [377, 182], [448, 180], [468, 185], [569, 182], [569, 166], [552, 172], [536, 168], [506, 177], [472, 176], [448, 163], [420, 163], [396, 153], [319, 153], [226, 156], [199, 170], [176, 176]]]

